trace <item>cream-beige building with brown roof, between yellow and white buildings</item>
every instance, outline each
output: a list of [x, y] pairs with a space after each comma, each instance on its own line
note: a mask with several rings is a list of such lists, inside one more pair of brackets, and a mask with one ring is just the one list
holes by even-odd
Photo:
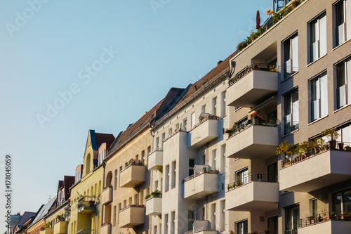
[[150, 233], [149, 216], [145, 216], [145, 197], [150, 194], [150, 160], [152, 124], [165, 115], [182, 98], [187, 89], [172, 88], [151, 110], [121, 132], [109, 147], [105, 164], [105, 183], [100, 233]]

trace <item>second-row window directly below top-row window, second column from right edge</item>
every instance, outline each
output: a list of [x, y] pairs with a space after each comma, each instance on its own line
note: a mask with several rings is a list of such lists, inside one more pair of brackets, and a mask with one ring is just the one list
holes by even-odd
[[311, 122], [328, 115], [328, 89], [326, 74], [312, 79], [311, 84]]

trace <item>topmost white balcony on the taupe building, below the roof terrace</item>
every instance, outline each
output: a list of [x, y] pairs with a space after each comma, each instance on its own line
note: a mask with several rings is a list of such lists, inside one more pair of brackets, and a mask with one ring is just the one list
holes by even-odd
[[267, 65], [253, 63], [230, 80], [227, 105], [253, 108], [278, 91], [278, 72]]

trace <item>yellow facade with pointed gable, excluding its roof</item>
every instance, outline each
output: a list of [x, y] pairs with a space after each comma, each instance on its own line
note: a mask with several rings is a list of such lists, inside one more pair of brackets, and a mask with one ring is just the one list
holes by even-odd
[[83, 176], [80, 181], [71, 187], [68, 234], [93, 234], [100, 232], [100, 195], [104, 169], [102, 164], [95, 169], [93, 168], [93, 160], [98, 155], [97, 151], [93, 150], [91, 131], [89, 131], [84, 153]]

